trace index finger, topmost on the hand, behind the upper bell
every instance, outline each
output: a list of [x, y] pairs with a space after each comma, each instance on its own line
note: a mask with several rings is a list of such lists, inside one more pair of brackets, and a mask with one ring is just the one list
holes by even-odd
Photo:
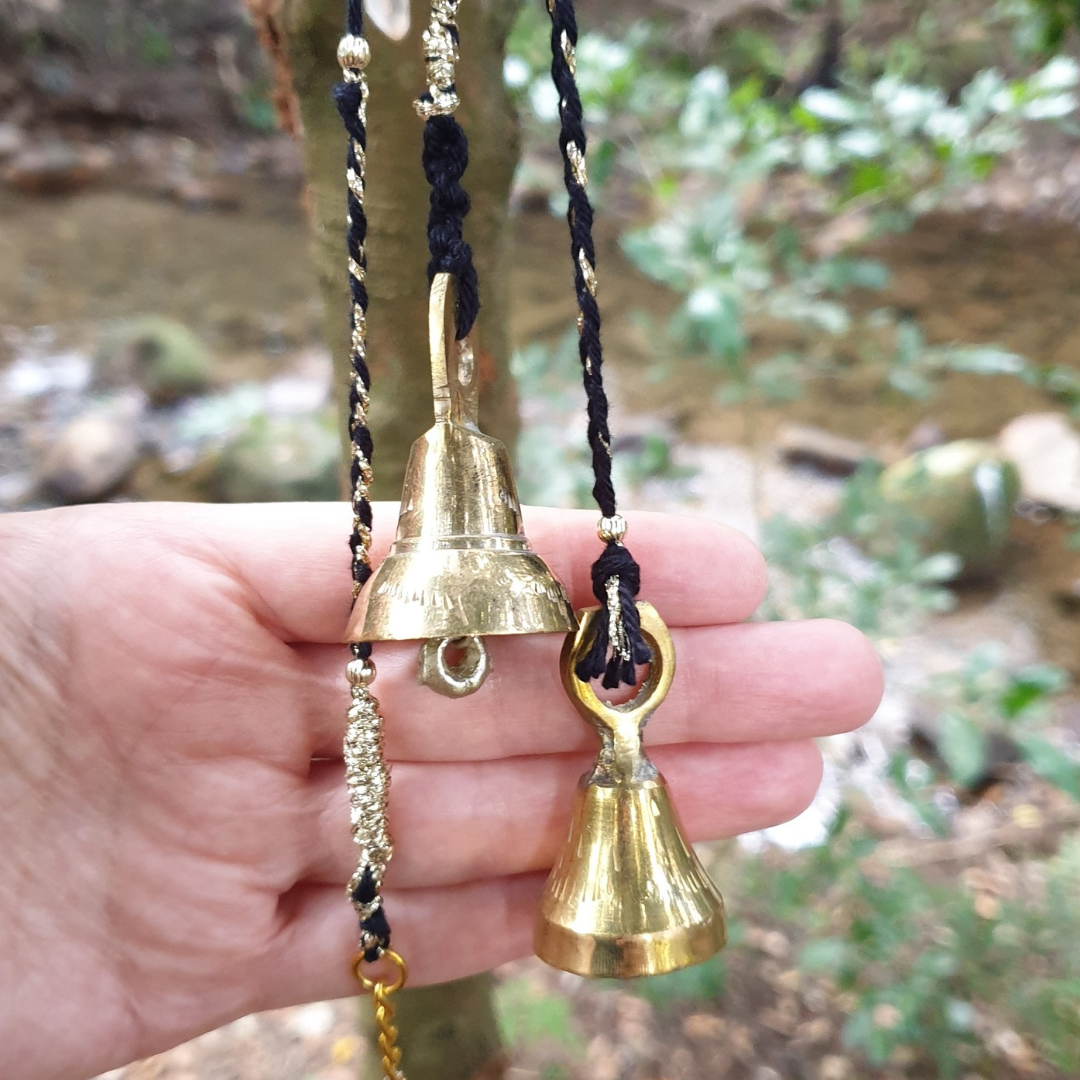
[[[148, 508], [149, 509], [149, 508]], [[345, 503], [154, 507], [172, 535], [244, 586], [253, 615], [289, 643], [342, 639], [351, 581]], [[626, 545], [642, 567], [642, 596], [671, 626], [741, 622], [760, 604], [765, 562], [743, 534], [705, 518], [631, 512]], [[386, 556], [396, 503], [375, 507], [373, 562]], [[566, 585], [575, 608], [595, 604], [590, 568], [600, 553], [597, 514], [526, 508], [526, 535]]]

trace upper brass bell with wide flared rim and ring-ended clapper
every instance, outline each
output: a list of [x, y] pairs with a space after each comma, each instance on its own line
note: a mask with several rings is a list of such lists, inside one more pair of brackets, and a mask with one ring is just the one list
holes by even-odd
[[489, 667], [484, 636], [576, 625], [566, 591], [525, 538], [507, 448], [477, 427], [475, 353], [469, 338], [456, 340], [456, 280], [436, 274], [435, 426], [413, 445], [397, 537], [347, 632], [350, 642], [423, 642], [420, 680], [447, 697], [480, 688]]

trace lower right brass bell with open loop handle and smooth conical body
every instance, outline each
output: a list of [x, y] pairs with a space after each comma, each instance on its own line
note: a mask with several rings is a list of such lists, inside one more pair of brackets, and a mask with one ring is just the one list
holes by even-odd
[[592, 640], [598, 608], [563, 648], [563, 685], [597, 729], [599, 757], [581, 778], [570, 835], [544, 887], [535, 947], [578, 975], [659, 975], [724, 947], [724, 900], [679, 828], [667, 785], [642, 730], [675, 674], [671, 634], [650, 604], [637, 605], [652, 649], [648, 678], [624, 705], [602, 702], [575, 665]]

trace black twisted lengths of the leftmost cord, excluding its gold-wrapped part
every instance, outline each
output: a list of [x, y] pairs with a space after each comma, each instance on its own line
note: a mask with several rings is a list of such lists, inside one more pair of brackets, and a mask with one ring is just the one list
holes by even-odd
[[[364, 12], [361, 0], [348, 0], [346, 15], [346, 33], [362, 38], [364, 33]], [[350, 268], [357, 267], [360, 273], [350, 269], [349, 291], [352, 297], [352, 336], [353, 347], [350, 350], [353, 378], [349, 380], [349, 437], [352, 443], [350, 462], [350, 490], [352, 492], [353, 514], [356, 524], [349, 546], [352, 551], [352, 579], [354, 594], [359, 594], [364, 583], [372, 576], [372, 565], [367, 555], [364, 535], [369, 539], [372, 529], [372, 502], [368, 495], [370, 483], [370, 461], [374, 450], [372, 433], [367, 427], [367, 394], [372, 387], [372, 377], [367, 367], [364, 350], [356, 346], [364, 336], [363, 322], [367, 316], [368, 296], [363, 274], [367, 270], [365, 243], [367, 240], [367, 216], [364, 213], [363, 175], [360, 154], [367, 152], [367, 130], [364, 124], [365, 82], [360, 79], [343, 79], [334, 87], [334, 100], [338, 112], [349, 134], [349, 150], [346, 167], [349, 176], [349, 226], [346, 240], [349, 249]], [[357, 190], [354, 190], [354, 186]], [[372, 656], [370, 642], [355, 642], [352, 645], [353, 657], [367, 660]], [[375, 870], [366, 867], [364, 874], [353, 890], [352, 900], [356, 904], [370, 904], [378, 895]], [[390, 947], [390, 923], [382, 910], [381, 904], [360, 923], [363, 941], [373, 942], [364, 951], [364, 959], [369, 963], [378, 960], [382, 951]]]

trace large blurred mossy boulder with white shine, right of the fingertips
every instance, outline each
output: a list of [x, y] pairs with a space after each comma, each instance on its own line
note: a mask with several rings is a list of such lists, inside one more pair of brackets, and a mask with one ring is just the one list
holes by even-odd
[[993, 443], [964, 438], [890, 465], [878, 491], [921, 524], [928, 554], [948, 551], [962, 559], [964, 575], [986, 573], [1004, 550], [1020, 473]]

